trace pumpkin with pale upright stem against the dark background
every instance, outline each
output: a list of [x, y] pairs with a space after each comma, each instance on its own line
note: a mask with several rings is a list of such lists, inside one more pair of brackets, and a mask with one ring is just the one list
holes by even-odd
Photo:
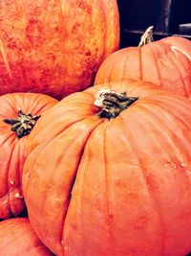
[[191, 98], [191, 41], [168, 36], [153, 41], [150, 27], [139, 47], [126, 47], [106, 58], [100, 65], [97, 83], [136, 79]]

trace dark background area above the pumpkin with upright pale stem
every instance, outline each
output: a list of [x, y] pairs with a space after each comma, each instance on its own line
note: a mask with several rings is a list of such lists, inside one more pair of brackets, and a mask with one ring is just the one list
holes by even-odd
[[117, 0], [121, 45], [137, 46], [140, 36], [154, 26], [154, 39], [181, 35], [191, 39], [191, 0]]

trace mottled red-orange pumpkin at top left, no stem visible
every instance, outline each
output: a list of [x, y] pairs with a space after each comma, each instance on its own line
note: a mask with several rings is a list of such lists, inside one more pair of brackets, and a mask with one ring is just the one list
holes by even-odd
[[118, 41], [116, 0], [1, 0], [0, 94], [82, 90]]

